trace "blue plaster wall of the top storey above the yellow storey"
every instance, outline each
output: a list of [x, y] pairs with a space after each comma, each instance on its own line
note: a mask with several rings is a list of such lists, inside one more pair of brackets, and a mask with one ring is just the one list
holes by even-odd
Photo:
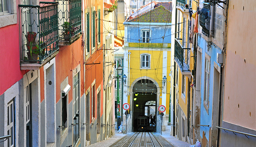
[[[134, 27], [138, 26], [138, 23], [131, 23], [132, 25], [125, 25], [124, 27], [124, 36], [125, 42], [131, 42], [131, 43], [139, 43], [139, 39], [142, 40], [141, 38], [141, 29], [150, 29], [151, 34], [150, 34], [150, 43], [163, 43], [163, 39], [161, 38], [162, 36], [164, 37], [164, 43], [170, 43], [171, 42], [171, 26], [168, 26], [167, 29], [165, 28], [166, 23], [161, 23], [163, 27], [159, 27], [159, 23], [139, 23], [139, 28]], [[168, 25], [171, 25], [171, 23], [168, 23]], [[126, 33], [127, 32], [127, 33]], [[165, 35], [164, 35], [165, 33]], [[169, 36], [168, 36], [169, 35]], [[159, 39], [156, 39], [159, 38]], [[140, 43], [142, 43], [140, 41]]]

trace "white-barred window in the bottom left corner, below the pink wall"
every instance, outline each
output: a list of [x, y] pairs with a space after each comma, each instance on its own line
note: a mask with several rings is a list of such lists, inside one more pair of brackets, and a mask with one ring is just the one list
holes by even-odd
[[8, 138], [7, 146], [13, 147], [14, 146], [14, 127], [13, 127], [13, 121], [14, 121], [14, 105], [13, 101], [11, 101], [7, 105], [7, 135], [11, 135], [10, 138]]

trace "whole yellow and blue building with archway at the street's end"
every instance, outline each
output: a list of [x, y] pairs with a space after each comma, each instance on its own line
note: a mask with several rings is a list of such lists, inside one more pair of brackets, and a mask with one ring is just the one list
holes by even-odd
[[[144, 11], [143, 8], [141, 11]], [[157, 15], [159, 13], [162, 16]], [[170, 42], [171, 11], [162, 5], [139, 16], [129, 17], [124, 22], [124, 74], [127, 79], [124, 83], [123, 103], [131, 105], [133, 131], [148, 129], [161, 132], [162, 117], [159, 115], [159, 105], [164, 105], [166, 111], [163, 114], [169, 116]], [[140, 117], [150, 118], [150, 114], [152, 119], [148, 119], [145, 124], [148, 128], [141, 126]]]

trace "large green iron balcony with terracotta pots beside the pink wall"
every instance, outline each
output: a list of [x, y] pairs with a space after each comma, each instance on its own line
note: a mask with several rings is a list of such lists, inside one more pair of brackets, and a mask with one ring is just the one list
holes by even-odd
[[21, 70], [38, 70], [59, 52], [58, 3], [19, 5], [21, 19]]

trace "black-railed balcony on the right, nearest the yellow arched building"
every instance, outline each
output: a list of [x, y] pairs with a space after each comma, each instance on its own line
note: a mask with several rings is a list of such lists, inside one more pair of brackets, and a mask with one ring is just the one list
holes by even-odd
[[175, 38], [174, 44], [174, 61], [180, 66], [181, 74], [190, 74], [189, 65], [188, 65], [188, 51], [190, 48], [183, 48]]

